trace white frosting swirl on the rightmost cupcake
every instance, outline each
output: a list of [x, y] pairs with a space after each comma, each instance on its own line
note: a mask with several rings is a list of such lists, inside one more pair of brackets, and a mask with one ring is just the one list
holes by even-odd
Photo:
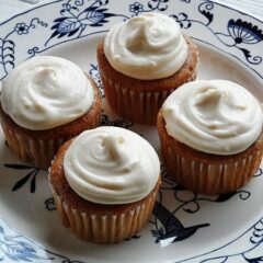
[[194, 81], [164, 102], [167, 132], [203, 152], [235, 155], [249, 148], [262, 129], [262, 108], [241, 85], [227, 80]]

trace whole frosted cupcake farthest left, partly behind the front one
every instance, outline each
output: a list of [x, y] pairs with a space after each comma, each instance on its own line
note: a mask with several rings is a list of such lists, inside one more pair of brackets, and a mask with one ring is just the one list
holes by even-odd
[[58, 57], [31, 58], [2, 83], [0, 121], [10, 150], [48, 168], [65, 140], [94, 128], [102, 102], [95, 82]]

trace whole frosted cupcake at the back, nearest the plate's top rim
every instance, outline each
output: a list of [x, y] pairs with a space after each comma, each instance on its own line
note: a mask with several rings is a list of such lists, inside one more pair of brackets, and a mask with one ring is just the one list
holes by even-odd
[[106, 101], [135, 123], [156, 124], [167, 96], [196, 78], [197, 61], [195, 44], [160, 13], [115, 25], [98, 46]]

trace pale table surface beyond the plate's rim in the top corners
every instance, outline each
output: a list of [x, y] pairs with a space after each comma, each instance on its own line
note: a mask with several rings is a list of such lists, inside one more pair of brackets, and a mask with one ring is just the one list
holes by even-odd
[[[0, 20], [12, 15], [23, 9], [32, 7], [30, 2], [45, 2], [49, 0], [0, 0]], [[263, 20], [263, 0], [214, 0], [238, 8]]]

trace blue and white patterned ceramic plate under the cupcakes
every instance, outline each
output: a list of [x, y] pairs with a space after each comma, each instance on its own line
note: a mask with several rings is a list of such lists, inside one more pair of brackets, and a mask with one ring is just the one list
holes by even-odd
[[[263, 22], [204, 0], [56, 0], [35, 5], [0, 23], [0, 79], [21, 60], [49, 54], [77, 62], [101, 87], [99, 39], [115, 23], [144, 12], [170, 15], [194, 38], [201, 55], [198, 79], [229, 79], [263, 99]], [[107, 106], [101, 121], [136, 130], [159, 151], [155, 127], [135, 126]], [[0, 169], [0, 262], [263, 262], [262, 169], [237, 193], [204, 196], [176, 186], [163, 168], [148, 226], [111, 245], [82, 242], [61, 226], [47, 172], [16, 160], [2, 133]]]

